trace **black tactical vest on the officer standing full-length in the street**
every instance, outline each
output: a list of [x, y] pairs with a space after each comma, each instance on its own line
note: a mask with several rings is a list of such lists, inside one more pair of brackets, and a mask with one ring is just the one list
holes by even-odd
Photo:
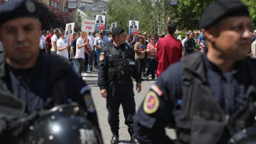
[[[126, 46], [126, 47], [125, 47]], [[121, 48], [115, 48], [113, 45], [108, 46], [110, 57], [108, 58], [108, 78], [110, 81], [131, 81], [131, 75], [135, 68], [135, 62], [130, 58], [129, 46], [121, 45]], [[127, 51], [126, 51], [127, 50]]]

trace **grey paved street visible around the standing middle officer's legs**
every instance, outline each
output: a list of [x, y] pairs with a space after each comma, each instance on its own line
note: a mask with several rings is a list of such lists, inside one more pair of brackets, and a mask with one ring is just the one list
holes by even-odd
[[[106, 110], [106, 100], [100, 96], [100, 89], [97, 85], [98, 80], [98, 73], [83, 73], [82, 74], [83, 79], [86, 79], [86, 83], [91, 87], [92, 90], [92, 98], [94, 100], [94, 104], [96, 106], [96, 110], [98, 113], [98, 120], [100, 124], [100, 129], [102, 132], [102, 137], [104, 143], [110, 143], [110, 139], [112, 137], [112, 133], [110, 131], [110, 127], [108, 125], [107, 117], [108, 117], [108, 111]], [[146, 96], [146, 93], [148, 92], [148, 89], [150, 85], [152, 85], [155, 81], [152, 81], [151, 78], [148, 81], [142, 81], [142, 90], [138, 94], [135, 92], [136, 87], [134, 87], [135, 92], [135, 103], [136, 103], [136, 111], [141, 105], [141, 102], [143, 101], [143, 98]], [[133, 85], [135, 85], [135, 81], [133, 81]], [[119, 110], [119, 141], [120, 143], [129, 143], [130, 137], [129, 133], [127, 131], [127, 126], [125, 125], [125, 118], [123, 116], [123, 109], [122, 107]], [[174, 132], [172, 129], [166, 129], [166, 133], [171, 137], [172, 139], [175, 138]]]

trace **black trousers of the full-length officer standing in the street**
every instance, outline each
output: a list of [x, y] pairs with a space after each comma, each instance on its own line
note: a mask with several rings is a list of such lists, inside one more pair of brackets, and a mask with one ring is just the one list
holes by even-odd
[[119, 107], [122, 104], [125, 124], [128, 132], [133, 136], [133, 115], [135, 114], [135, 100], [133, 82], [118, 84], [108, 82], [108, 96], [106, 96], [106, 108], [108, 110], [108, 124], [113, 135], [119, 136]]

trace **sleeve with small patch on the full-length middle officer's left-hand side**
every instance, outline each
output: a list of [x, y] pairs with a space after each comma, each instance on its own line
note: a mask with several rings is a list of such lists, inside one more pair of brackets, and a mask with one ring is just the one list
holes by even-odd
[[98, 63], [98, 86], [100, 90], [106, 89], [108, 82], [108, 57], [109, 53], [106, 48], [100, 53], [100, 62]]

